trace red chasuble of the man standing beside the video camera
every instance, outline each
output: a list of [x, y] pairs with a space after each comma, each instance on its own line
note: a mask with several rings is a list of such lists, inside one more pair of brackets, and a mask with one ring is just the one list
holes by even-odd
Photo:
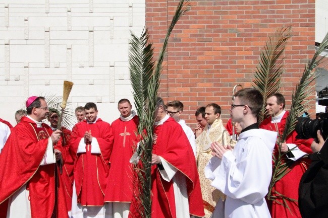
[[[286, 120], [289, 115], [289, 112], [286, 111], [284, 116], [281, 119], [280, 123], [277, 123], [279, 133], [283, 134]], [[266, 118], [263, 120], [263, 122], [260, 125], [260, 128], [267, 129], [270, 131], [277, 131], [275, 123], [271, 123], [271, 117]], [[296, 139], [296, 131], [294, 130], [286, 139], [286, 143], [293, 143], [298, 146], [300, 150], [302, 150], [305, 153], [312, 153], [311, 150], [311, 143], [313, 139]], [[276, 144], [274, 149], [274, 155], [278, 155], [278, 144]], [[287, 160], [287, 157], [285, 158]], [[277, 196], [276, 200], [279, 201], [279, 203], [272, 201], [268, 202], [269, 210], [271, 212], [272, 218], [279, 217], [279, 218], [285, 218], [285, 217], [300, 217], [301, 214], [298, 209], [298, 203], [297, 201], [290, 201], [286, 200], [288, 203], [289, 208], [291, 211], [289, 211], [288, 208], [284, 206], [283, 199], [279, 198], [276, 194], [276, 191], [285, 195], [286, 197], [298, 200], [298, 186], [301, 180], [302, 175], [306, 171], [307, 167], [309, 166], [309, 159], [300, 158], [289, 166], [290, 172], [287, 173], [281, 180], [276, 182], [274, 188], [272, 188], [272, 194], [274, 196]]]

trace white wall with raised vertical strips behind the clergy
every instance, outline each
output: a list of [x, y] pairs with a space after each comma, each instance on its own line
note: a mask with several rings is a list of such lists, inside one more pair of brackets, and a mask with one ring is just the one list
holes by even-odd
[[70, 80], [73, 109], [95, 102], [99, 116], [114, 121], [117, 102], [133, 102], [129, 31], [139, 35], [144, 25], [140, 0], [1, 1], [1, 118], [15, 124], [27, 97], [61, 96], [63, 81]]

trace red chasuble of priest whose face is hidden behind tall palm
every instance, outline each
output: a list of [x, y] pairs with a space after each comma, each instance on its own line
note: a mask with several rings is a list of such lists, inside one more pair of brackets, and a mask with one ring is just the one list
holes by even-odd
[[[154, 133], [157, 134], [157, 142], [153, 144], [153, 154], [162, 157], [186, 176], [189, 213], [203, 216], [203, 200], [195, 156], [181, 125], [170, 117], [162, 125], [155, 126]], [[151, 217], [179, 218], [176, 217], [173, 181], [163, 180], [157, 165], [153, 165], [151, 168], [151, 182]], [[130, 211], [129, 217], [140, 217], [135, 211], [134, 200], [131, 203]]]

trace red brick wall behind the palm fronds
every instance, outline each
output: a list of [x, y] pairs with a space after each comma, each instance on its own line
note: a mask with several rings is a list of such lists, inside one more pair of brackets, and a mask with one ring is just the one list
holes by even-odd
[[[226, 122], [230, 117], [232, 89], [236, 84], [250, 87], [268, 35], [284, 25], [292, 25], [293, 37], [285, 51], [286, 72], [282, 78], [288, 108], [291, 92], [315, 52], [314, 3], [314, 0], [191, 1], [191, 10], [171, 35], [159, 96], [166, 102], [182, 101], [183, 118], [192, 128], [195, 110], [211, 102], [221, 105]], [[177, 0], [146, 0], [146, 26], [156, 55], [177, 4]], [[315, 113], [314, 109], [310, 112]]]

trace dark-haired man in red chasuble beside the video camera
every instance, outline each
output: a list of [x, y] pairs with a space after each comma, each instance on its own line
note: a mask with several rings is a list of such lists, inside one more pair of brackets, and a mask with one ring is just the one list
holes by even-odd
[[[269, 117], [263, 120], [260, 128], [279, 132], [279, 135], [282, 135], [289, 115], [289, 112], [285, 111], [284, 108], [285, 98], [282, 94], [275, 93], [268, 96], [265, 109]], [[269, 205], [273, 218], [301, 217], [298, 202], [288, 198], [298, 199], [299, 182], [309, 165], [308, 159], [302, 157], [312, 153], [310, 147], [313, 139], [296, 139], [296, 135], [297, 133], [294, 130], [287, 136], [286, 141], [281, 144], [281, 152], [286, 154], [283, 162], [288, 162], [289, 167], [287, 174], [277, 181], [274, 188], [272, 188], [271, 194], [276, 196], [275, 200], [272, 200], [271, 205]], [[276, 144], [275, 158], [279, 158], [278, 154], [279, 146]], [[284, 199], [281, 195], [287, 198]]]

